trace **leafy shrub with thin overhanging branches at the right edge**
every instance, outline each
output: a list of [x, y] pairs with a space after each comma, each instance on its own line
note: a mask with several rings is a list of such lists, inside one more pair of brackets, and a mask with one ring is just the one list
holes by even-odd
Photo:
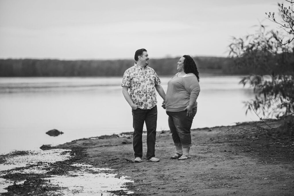
[[[243, 133], [260, 133], [265, 137], [294, 136], [294, 9], [293, 0], [278, 4], [278, 14], [265, 13], [277, 24], [278, 30], [266, 31], [265, 26], [255, 34], [233, 38], [230, 56], [236, 70], [250, 70], [241, 84], [254, 88], [255, 99], [245, 102], [248, 111], [265, 118], [281, 118], [282, 126], [252, 128]], [[259, 117], [259, 116], [258, 116]], [[260, 117], [259, 117], [260, 118]], [[260, 118], [262, 120], [262, 118]]]

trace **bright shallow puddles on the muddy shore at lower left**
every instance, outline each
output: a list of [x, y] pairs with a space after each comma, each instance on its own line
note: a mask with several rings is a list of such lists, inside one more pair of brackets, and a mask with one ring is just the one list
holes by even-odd
[[[24, 167], [34, 165], [42, 162], [41, 165], [36, 165], [30, 168], [23, 168], [21, 170], [9, 171], [9, 173], [32, 173], [32, 174], [46, 174], [46, 170], [42, 170], [45, 165], [56, 161], [66, 160], [70, 157], [69, 153], [63, 153], [66, 150], [52, 149], [42, 152], [30, 152], [29, 155], [21, 155], [14, 157], [7, 157], [6, 164], [0, 164], [1, 176], [6, 172], [3, 170], [13, 169], [15, 167]], [[66, 175], [50, 175], [50, 180], [45, 183], [45, 186], [60, 187], [60, 190], [54, 192], [46, 192], [48, 195], [115, 195], [108, 191], [123, 190], [128, 194], [124, 183], [133, 182], [126, 176], [118, 176], [116, 174], [107, 174], [109, 168], [97, 168], [92, 165], [73, 164], [77, 170], [67, 173]], [[6, 187], [13, 185], [15, 181], [6, 180], [0, 176], [0, 194], [7, 192]], [[22, 184], [24, 181], [16, 181], [17, 184]]]

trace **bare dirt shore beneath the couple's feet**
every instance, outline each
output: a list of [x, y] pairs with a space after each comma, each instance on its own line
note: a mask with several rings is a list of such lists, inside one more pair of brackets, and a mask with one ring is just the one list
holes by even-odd
[[[267, 124], [280, 125], [278, 121]], [[146, 162], [144, 156], [142, 163], [133, 163], [132, 133], [84, 138], [57, 148], [72, 150], [71, 163], [110, 167], [113, 170], [108, 172], [117, 177], [131, 177], [134, 182], [127, 188], [134, 193], [129, 195], [293, 195], [293, 138], [282, 141], [258, 138], [255, 132], [241, 134], [256, 126], [267, 125], [258, 122], [192, 130], [191, 159], [187, 160], [170, 159], [175, 149], [169, 131], [157, 133], [157, 163]], [[146, 148], [143, 134], [143, 154]], [[127, 195], [123, 190], [113, 193]]]

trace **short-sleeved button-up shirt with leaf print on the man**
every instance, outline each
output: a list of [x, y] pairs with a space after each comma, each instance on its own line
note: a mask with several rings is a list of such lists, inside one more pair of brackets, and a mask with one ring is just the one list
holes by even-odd
[[140, 109], [151, 109], [157, 105], [155, 86], [161, 83], [156, 72], [146, 66], [143, 72], [136, 63], [123, 74], [121, 86], [130, 87], [130, 96], [134, 104]]

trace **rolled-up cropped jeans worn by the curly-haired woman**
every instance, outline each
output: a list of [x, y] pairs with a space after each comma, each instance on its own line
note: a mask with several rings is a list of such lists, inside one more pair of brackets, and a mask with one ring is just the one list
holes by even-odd
[[169, 112], [168, 126], [171, 130], [171, 136], [175, 146], [182, 146], [183, 148], [190, 148], [191, 145], [191, 126], [193, 118], [197, 113], [197, 107], [193, 108], [193, 115], [186, 116], [187, 111]]

